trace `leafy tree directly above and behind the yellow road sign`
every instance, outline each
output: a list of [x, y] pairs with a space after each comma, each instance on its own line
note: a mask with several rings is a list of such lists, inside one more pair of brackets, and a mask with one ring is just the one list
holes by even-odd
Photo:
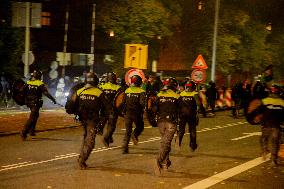
[[[115, 58], [121, 67], [124, 44], [151, 44], [150, 55], [157, 56], [158, 40], [172, 35], [179, 25], [178, 1], [115, 0], [104, 2], [98, 10], [97, 26], [115, 33]], [[155, 47], [155, 48], [153, 48]], [[151, 57], [150, 57], [151, 58]]]

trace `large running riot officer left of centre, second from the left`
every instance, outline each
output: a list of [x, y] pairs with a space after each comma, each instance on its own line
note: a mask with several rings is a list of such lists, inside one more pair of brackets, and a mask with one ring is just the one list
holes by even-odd
[[97, 85], [99, 78], [95, 73], [86, 74], [86, 84], [75, 93], [78, 101], [78, 116], [84, 127], [84, 138], [78, 163], [81, 169], [86, 169], [86, 161], [95, 146], [97, 127], [100, 122], [100, 114], [104, 111], [108, 115], [111, 110], [105, 94]]

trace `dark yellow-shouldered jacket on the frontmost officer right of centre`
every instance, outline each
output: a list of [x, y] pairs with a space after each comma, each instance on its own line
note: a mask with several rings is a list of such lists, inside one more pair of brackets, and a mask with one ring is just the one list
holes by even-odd
[[160, 91], [158, 93], [156, 101], [158, 121], [163, 120], [177, 123], [179, 97], [180, 95], [171, 89]]

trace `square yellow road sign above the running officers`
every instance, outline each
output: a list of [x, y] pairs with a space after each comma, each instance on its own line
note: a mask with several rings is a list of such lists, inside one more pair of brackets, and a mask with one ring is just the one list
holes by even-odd
[[124, 68], [147, 69], [148, 45], [126, 44]]

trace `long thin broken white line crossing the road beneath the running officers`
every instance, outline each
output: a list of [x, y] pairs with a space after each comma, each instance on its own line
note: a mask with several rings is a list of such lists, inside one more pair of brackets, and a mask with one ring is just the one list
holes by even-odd
[[[246, 123], [246, 122], [244, 122], [244, 123]], [[237, 125], [244, 124], [244, 123], [238, 122]], [[212, 128], [204, 128], [204, 129], [196, 131], [196, 132], [199, 132], [199, 133], [200, 132], [206, 132], [206, 131], [211, 131], [211, 130], [215, 130], [215, 129], [222, 129], [222, 128], [225, 128], [225, 127], [227, 127], [227, 126], [215, 126], [215, 127], [212, 127]], [[153, 127], [149, 127], [149, 128], [153, 128]], [[189, 134], [189, 133], [186, 133], [186, 134]], [[145, 141], [140, 141], [138, 143], [143, 144], [143, 143], [149, 143], [149, 142], [159, 141], [159, 140], [161, 140], [161, 137], [153, 137], [153, 138], [149, 138], [148, 140], [145, 140]], [[130, 142], [129, 145], [133, 145], [133, 143]], [[113, 146], [113, 147], [109, 147], [109, 148], [98, 147], [96, 149], [93, 149], [92, 153], [114, 150], [114, 149], [118, 149], [118, 148], [122, 148], [122, 146]], [[21, 167], [27, 167], [27, 166], [31, 166], [31, 165], [49, 163], [49, 162], [63, 160], [63, 159], [67, 159], [67, 158], [73, 158], [73, 157], [77, 157], [77, 156], [79, 156], [78, 153], [69, 153], [69, 154], [64, 154], [64, 155], [57, 155], [57, 156], [55, 156], [55, 158], [52, 158], [52, 159], [49, 159], [49, 160], [43, 160], [43, 161], [39, 161], [39, 162], [33, 162], [32, 163], [32, 162], [29, 161], [29, 162], [22, 162], [22, 163], [17, 163], [17, 164], [5, 165], [5, 166], [2, 166], [3, 169], [0, 169], [0, 172], [11, 170], [11, 169], [17, 169], [17, 168], [21, 168]]]

